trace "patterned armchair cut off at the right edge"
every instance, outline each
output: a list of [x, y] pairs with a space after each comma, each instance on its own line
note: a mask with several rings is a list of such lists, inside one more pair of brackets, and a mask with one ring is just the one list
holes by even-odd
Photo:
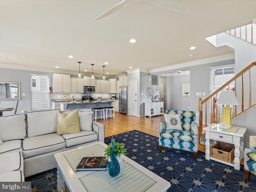
[[250, 175], [256, 176], [256, 136], [250, 136], [250, 148], [244, 148], [244, 173], [245, 179], [250, 180]]

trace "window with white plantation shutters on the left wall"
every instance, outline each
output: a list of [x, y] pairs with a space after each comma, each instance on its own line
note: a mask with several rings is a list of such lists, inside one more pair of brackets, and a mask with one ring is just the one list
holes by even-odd
[[49, 76], [31, 74], [31, 110], [49, 109]]

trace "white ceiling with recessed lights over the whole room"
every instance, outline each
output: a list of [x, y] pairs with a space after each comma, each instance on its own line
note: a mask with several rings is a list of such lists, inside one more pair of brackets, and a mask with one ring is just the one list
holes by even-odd
[[[82, 72], [90, 74], [95, 64], [94, 74], [102, 74], [108, 62], [105, 73], [119, 75], [130, 66], [171, 66], [232, 53], [205, 38], [256, 18], [255, 0], [173, 0], [186, 11], [135, 3], [94, 20], [119, 2], [1, 0], [0, 68], [77, 74], [80, 61]], [[137, 42], [131, 44], [130, 38]]]

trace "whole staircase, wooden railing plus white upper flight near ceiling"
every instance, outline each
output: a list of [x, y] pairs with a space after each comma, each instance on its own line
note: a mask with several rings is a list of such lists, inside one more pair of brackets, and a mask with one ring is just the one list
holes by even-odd
[[[246, 126], [245, 138], [256, 135], [254, 126], [254, 113], [256, 111], [256, 67], [254, 67], [256, 65], [254, 62], [256, 60], [256, 19], [253, 19], [252, 22], [252, 24], [206, 38], [216, 47], [228, 46], [234, 50], [235, 70], [240, 72], [204, 100], [199, 98], [198, 150], [200, 151], [205, 151], [205, 135], [202, 129], [209, 124], [222, 122], [222, 115], [219, 110], [222, 106], [216, 105], [216, 101], [218, 93], [226, 88], [234, 90], [240, 103], [238, 106], [230, 106], [232, 108], [232, 122], [235, 122], [234, 126]], [[246, 63], [251, 64], [247, 66]], [[231, 82], [235, 86], [231, 86]], [[247, 139], [244, 140], [244, 146], [246, 144], [249, 144]]]

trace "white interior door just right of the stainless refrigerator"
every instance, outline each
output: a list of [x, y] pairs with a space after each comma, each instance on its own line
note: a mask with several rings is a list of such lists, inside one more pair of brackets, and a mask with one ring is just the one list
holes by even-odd
[[129, 115], [138, 116], [137, 104], [137, 80], [129, 81]]

